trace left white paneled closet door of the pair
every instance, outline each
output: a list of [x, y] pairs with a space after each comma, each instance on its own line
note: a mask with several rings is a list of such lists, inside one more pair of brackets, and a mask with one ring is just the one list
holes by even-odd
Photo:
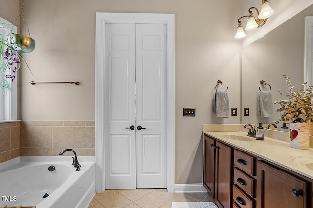
[[105, 138], [106, 189], [136, 188], [135, 24], [106, 24], [109, 133]]

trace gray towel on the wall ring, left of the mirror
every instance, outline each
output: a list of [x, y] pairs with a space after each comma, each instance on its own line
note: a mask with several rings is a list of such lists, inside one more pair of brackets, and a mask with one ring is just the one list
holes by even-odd
[[229, 100], [227, 90], [216, 90], [214, 114], [217, 117], [228, 118], [229, 116]]

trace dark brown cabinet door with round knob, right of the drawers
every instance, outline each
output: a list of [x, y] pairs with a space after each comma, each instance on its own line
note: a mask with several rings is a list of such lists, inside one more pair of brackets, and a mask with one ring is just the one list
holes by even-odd
[[309, 206], [307, 182], [263, 162], [258, 161], [257, 165], [257, 208]]

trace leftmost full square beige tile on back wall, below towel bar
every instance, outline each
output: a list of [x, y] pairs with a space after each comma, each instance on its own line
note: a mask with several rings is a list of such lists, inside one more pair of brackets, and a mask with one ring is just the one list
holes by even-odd
[[51, 148], [52, 127], [34, 126], [30, 128], [30, 147]]

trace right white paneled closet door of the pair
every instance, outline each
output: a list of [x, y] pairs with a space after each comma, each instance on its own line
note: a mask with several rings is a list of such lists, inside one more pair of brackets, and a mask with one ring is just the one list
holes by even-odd
[[137, 24], [136, 39], [137, 188], [166, 188], [166, 25]]

